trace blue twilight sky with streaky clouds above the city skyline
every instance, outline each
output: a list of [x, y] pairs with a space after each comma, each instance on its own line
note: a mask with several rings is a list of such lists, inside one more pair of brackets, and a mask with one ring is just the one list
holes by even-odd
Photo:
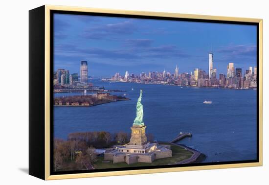
[[229, 62], [244, 71], [256, 66], [256, 26], [223, 23], [54, 15], [54, 70], [79, 73], [88, 61], [90, 76], [149, 71], [208, 73], [212, 44], [214, 68], [226, 74]]

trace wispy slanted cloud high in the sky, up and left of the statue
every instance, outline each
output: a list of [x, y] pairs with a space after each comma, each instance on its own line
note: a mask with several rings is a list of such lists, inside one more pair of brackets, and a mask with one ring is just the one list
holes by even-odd
[[136, 26], [131, 21], [125, 21], [121, 23], [91, 26], [86, 29], [81, 36], [86, 39], [103, 39], [116, 35], [131, 35], [136, 29]]

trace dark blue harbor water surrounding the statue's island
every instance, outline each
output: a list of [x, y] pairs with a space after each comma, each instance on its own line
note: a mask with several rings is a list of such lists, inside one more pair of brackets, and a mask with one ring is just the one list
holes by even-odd
[[[152, 133], [155, 140], [170, 141], [179, 132], [191, 132], [191, 138], [179, 143], [205, 154], [204, 162], [256, 159], [255, 90], [92, 82], [107, 90], [126, 91], [123, 93], [131, 100], [92, 107], [54, 107], [54, 138], [67, 139], [73, 132], [131, 132], [136, 101], [142, 89], [146, 133]], [[74, 94], [80, 93], [55, 96]], [[204, 100], [213, 103], [203, 104]]]

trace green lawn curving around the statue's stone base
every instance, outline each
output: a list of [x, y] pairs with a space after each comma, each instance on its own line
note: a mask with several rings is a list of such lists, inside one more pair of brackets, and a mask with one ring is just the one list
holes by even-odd
[[[169, 144], [169, 143], [161, 142], [159, 144]], [[94, 167], [96, 169], [104, 169], [104, 168], [121, 168], [121, 167], [156, 166], [156, 165], [174, 164], [176, 162], [190, 158], [193, 154], [192, 152], [185, 150], [184, 148], [181, 148], [177, 145], [171, 145], [171, 149], [172, 149], [172, 157], [157, 159], [152, 163], [137, 162], [134, 164], [127, 164], [126, 162], [119, 162], [119, 163], [113, 164], [112, 161], [102, 162], [104, 161], [104, 157], [97, 157], [97, 161], [94, 162]]]

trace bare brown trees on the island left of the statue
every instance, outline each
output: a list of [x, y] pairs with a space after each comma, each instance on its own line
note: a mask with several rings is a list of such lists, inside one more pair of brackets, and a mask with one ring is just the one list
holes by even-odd
[[[77, 132], [68, 135], [67, 140], [54, 139], [54, 171], [92, 169], [96, 161], [94, 150], [110, 148], [130, 142], [131, 134], [118, 132]], [[153, 141], [152, 134], [147, 134]]]

